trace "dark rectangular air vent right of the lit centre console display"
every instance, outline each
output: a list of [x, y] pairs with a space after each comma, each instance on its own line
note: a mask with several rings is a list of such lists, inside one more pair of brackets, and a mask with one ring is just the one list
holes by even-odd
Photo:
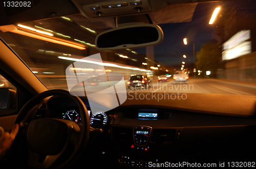
[[154, 129], [151, 136], [151, 143], [173, 143], [175, 129]]

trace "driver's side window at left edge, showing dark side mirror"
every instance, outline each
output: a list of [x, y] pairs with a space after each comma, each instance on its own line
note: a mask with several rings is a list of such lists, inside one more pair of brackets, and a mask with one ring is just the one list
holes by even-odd
[[16, 91], [12, 83], [0, 75], [0, 115], [15, 112]]

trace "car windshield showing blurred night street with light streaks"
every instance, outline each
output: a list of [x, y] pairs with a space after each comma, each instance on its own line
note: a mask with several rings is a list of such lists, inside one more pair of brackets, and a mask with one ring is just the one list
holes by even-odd
[[[74, 15], [19, 23], [0, 27], [0, 36], [48, 89], [68, 90], [66, 69], [78, 59], [100, 53], [105, 72], [123, 75], [124, 92], [255, 95], [255, 4], [198, 3], [191, 6], [194, 15], [184, 20], [163, 11], [157, 20], [164, 34], [162, 43], [141, 48], [97, 50], [96, 36], [115, 27], [114, 19], [108, 17]], [[150, 16], [154, 23], [154, 13]], [[76, 71], [102, 70], [79, 67]], [[129, 86], [133, 83], [129, 79], [142, 74], [150, 80]], [[167, 80], [159, 81], [160, 75]], [[104, 82], [95, 76], [87, 86], [100, 87]]]

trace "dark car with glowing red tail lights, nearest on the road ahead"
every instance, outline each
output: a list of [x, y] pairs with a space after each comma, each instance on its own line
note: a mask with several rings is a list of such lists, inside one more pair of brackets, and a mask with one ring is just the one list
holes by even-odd
[[128, 88], [145, 88], [151, 87], [152, 82], [150, 77], [146, 75], [133, 75], [127, 81]]

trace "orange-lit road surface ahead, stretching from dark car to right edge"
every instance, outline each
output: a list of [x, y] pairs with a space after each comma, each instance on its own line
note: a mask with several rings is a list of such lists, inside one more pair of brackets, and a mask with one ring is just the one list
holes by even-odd
[[256, 85], [207, 78], [191, 78], [187, 84], [174, 84], [173, 80], [169, 79], [166, 82], [153, 81], [152, 87], [148, 89], [127, 89], [128, 92], [214, 93], [256, 96]]

